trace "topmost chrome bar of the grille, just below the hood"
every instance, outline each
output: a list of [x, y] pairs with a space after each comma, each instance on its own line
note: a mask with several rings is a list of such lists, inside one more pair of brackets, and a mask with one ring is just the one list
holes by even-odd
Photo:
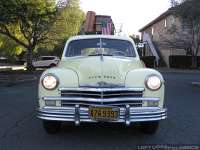
[[88, 92], [113, 92], [113, 91], [136, 91], [136, 92], [144, 92], [144, 88], [87, 88], [87, 87], [79, 87], [79, 88], [59, 88], [59, 91], [88, 91]]

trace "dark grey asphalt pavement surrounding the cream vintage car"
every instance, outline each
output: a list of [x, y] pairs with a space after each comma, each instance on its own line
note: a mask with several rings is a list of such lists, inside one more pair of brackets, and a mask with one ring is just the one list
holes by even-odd
[[197, 73], [166, 73], [168, 119], [155, 135], [138, 126], [63, 125], [48, 135], [36, 118], [37, 82], [0, 86], [0, 150], [133, 150], [146, 144], [200, 144], [200, 81]]

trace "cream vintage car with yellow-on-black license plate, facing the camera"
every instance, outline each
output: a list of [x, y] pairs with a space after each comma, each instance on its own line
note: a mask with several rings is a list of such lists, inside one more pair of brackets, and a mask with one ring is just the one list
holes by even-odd
[[70, 38], [57, 67], [39, 81], [38, 117], [47, 133], [61, 122], [139, 123], [155, 133], [166, 119], [164, 79], [145, 68], [134, 42], [113, 35]]

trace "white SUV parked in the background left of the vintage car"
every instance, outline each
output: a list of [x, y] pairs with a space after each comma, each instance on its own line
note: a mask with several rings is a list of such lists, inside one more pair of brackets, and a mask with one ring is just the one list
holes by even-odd
[[[48, 68], [55, 67], [60, 61], [57, 56], [41, 56], [36, 60], [33, 60], [32, 65], [34, 68]], [[27, 63], [25, 63], [26, 65]]]

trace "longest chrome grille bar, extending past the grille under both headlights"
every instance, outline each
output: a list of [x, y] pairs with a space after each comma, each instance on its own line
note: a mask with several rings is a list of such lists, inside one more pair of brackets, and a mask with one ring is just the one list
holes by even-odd
[[54, 97], [54, 96], [48, 96], [48, 97], [42, 97], [43, 100], [60, 100], [60, 101], [84, 101], [84, 102], [123, 102], [123, 101], [153, 101], [158, 102], [160, 98], [157, 97], [123, 97], [123, 98], [82, 98], [82, 97]]

